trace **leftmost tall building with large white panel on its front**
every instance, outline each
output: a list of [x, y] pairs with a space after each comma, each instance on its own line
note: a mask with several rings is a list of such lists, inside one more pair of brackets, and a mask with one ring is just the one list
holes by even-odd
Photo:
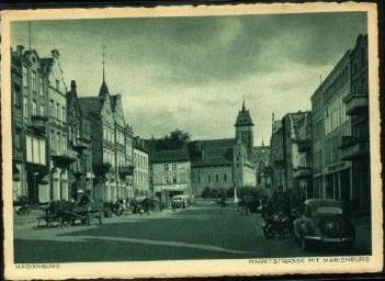
[[35, 50], [11, 52], [13, 200], [49, 199], [48, 77]]

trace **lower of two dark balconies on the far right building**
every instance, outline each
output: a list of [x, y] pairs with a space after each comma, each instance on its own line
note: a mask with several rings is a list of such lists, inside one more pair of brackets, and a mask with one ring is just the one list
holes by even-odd
[[353, 136], [342, 136], [341, 160], [351, 161], [355, 158], [369, 156], [369, 140]]

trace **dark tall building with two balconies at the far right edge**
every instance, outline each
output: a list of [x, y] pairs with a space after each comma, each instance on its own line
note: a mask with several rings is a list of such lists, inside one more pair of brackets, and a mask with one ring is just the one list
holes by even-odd
[[350, 54], [351, 89], [344, 97], [346, 113], [351, 121], [351, 135], [343, 135], [341, 160], [351, 162], [350, 200], [355, 209], [371, 206], [369, 145], [369, 69], [367, 35], [359, 35]]

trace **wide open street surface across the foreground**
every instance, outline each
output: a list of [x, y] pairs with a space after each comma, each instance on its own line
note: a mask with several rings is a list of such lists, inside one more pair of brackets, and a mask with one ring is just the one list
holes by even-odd
[[[25, 221], [27, 221], [25, 218]], [[14, 225], [14, 261], [81, 262], [245, 259], [341, 255], [303, 251], [292, 237], [267, 239], [259, 214], [235, 207], [191, 207], [105, 218], [103, 225], [36, 228]], [[352, 255], [369, 254], [365, 241]]]

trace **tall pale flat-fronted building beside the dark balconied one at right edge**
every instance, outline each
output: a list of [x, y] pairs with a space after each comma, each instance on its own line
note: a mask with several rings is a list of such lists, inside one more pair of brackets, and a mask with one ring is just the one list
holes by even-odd
[[351, 200], [351, 162], [341, 159], [351, 119], [343, 100], [351, 91], [348, 50], [312, 97], [314, 196]]

